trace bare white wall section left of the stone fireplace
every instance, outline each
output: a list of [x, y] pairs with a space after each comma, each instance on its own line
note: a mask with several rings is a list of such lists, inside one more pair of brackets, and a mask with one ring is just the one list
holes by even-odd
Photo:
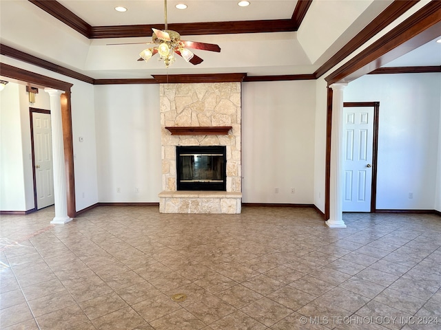
[[94, 89], [99, 201], [158, 202], [162, 190], [159, 85]]

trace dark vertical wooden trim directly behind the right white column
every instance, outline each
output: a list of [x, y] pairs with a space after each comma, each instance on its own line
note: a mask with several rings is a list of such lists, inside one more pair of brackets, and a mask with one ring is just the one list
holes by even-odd
[[331, 203], [331, 129], [332, 129], [332, 89], [327, 87], [326, 103], [326, 165], [325, 165], [325, 220], [329, 219]]

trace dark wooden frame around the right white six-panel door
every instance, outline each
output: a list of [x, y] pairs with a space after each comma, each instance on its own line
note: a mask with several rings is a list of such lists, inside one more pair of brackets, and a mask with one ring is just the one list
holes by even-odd
[[377, 210], [377, 164], [378, 164], [378, 115], [380, 102], [343, 102], [343, 107], [373, 107], [373, 142], [372, 142], [372, 180], [371, 180], [371, 210]]

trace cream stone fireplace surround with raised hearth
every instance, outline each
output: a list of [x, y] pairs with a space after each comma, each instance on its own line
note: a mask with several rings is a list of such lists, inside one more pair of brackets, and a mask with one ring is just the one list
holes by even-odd
[[[240, 83], [161, 84], [163, 213], [240, 213]], [[227, 135], [171, 135], [165, 126], [232, 126]], [[227, 191], [176, 191], [176, 146], [226, 146]]]

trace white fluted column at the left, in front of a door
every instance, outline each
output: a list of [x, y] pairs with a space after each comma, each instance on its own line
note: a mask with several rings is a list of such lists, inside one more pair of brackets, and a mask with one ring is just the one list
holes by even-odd
[[50, 95], [50, 122], [52, 129], [52, 162], [54, 163], [54, 199], [55, 217], [50, 223], [66, 223], [72, 220], [68, 216], [66, 193], [66, 175], [64, 167], [63, 123], [61, 121], [60, 95], [64, 91], [45, 88]]

